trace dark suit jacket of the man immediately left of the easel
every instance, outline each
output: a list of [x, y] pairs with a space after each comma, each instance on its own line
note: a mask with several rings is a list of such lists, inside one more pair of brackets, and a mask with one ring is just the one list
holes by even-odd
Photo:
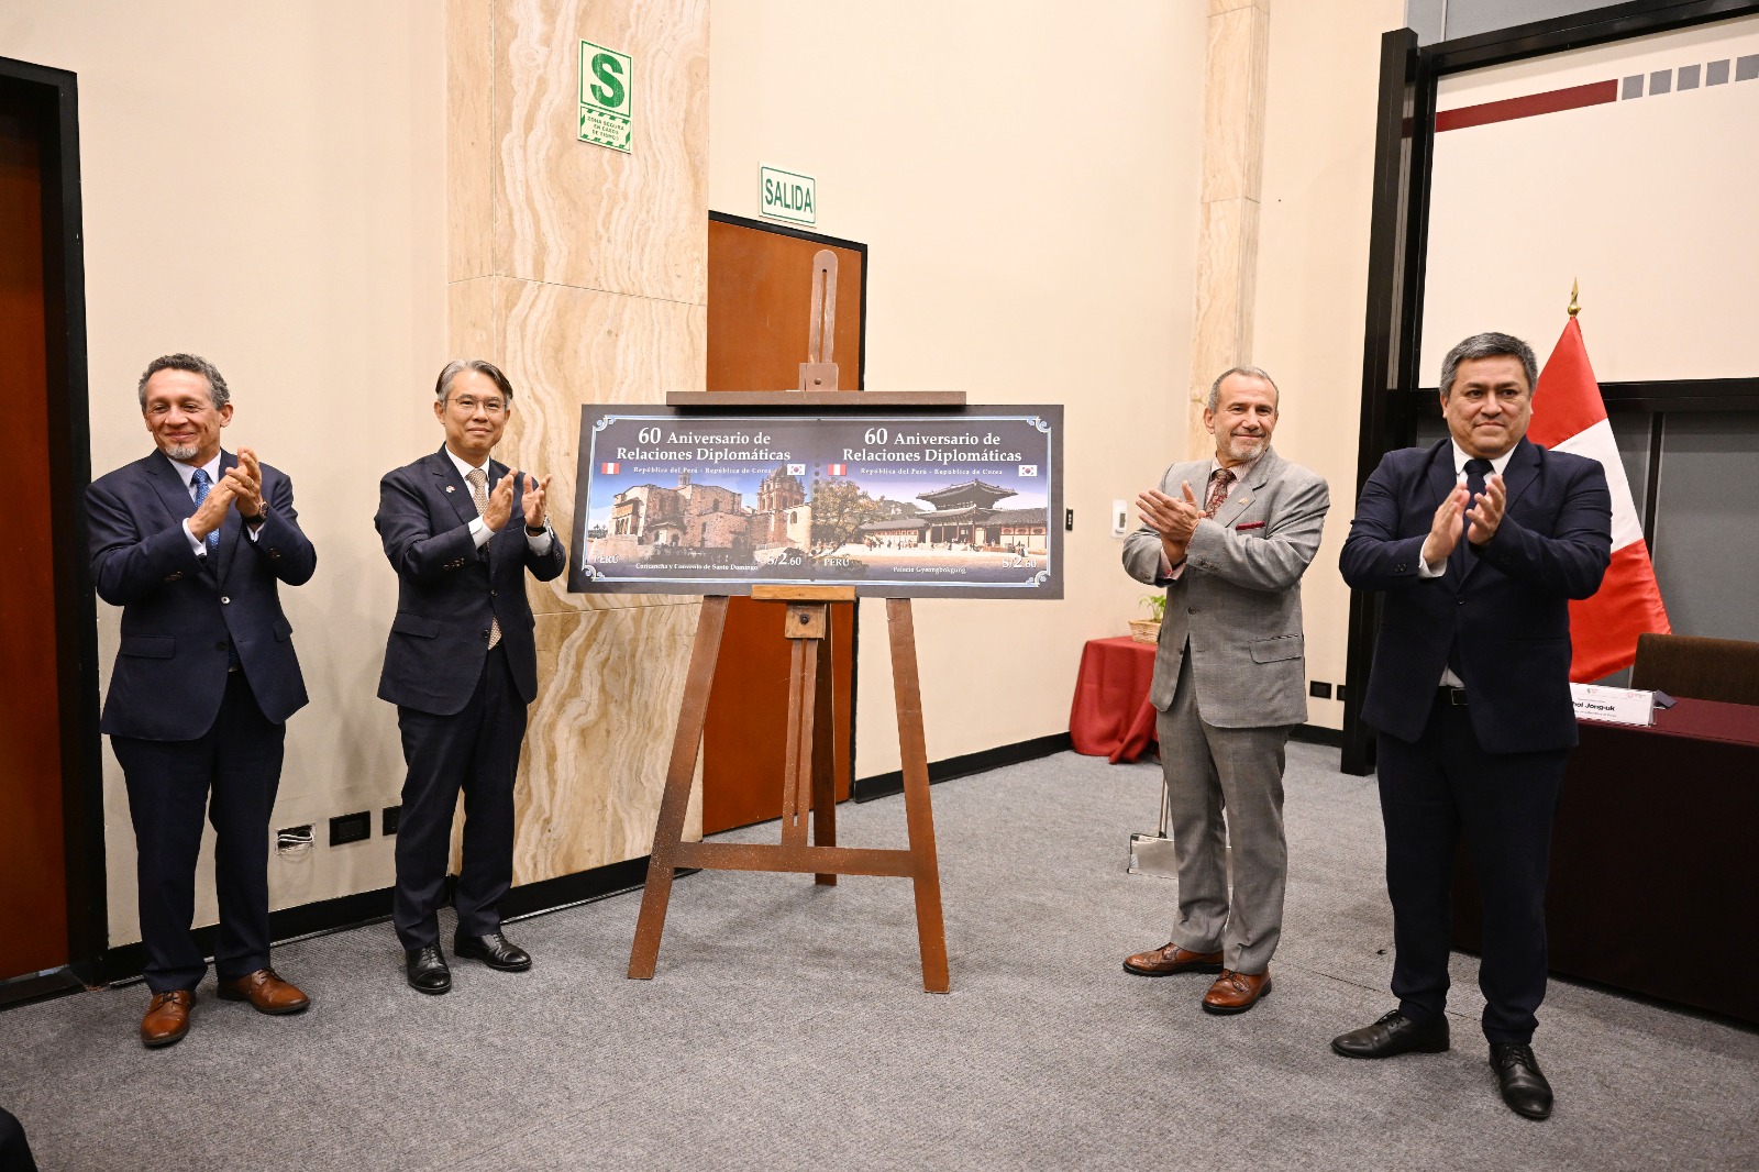
[[[489, 491], [507, 465], [489, 461]], [[489, 655], [489, 618], [501, 625], [507, 665], [526, 704], [538, 693], [538, 656], [524, 572], [547, 582], [568, 565], [561, 538], [549, 553], [526, 542], [524, 479], [514, 487], [514, 512], [501, 531], [477, 549], [470, 523], [477, 505], [457, 465], [442, 447], [378, 482], [378, 537], [398, 572], [398, 616], [385, 644], [378, 697], [434, 716], [452, 716], [470, 702]]]

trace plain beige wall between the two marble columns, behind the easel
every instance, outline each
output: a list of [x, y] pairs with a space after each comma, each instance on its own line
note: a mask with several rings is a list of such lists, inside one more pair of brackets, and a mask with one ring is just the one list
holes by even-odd
[[[1064, 600], [915, 604], [931, 760], [1064, 732], [1082, 642], [1143, 614], [1106, 516], [1182, 442], [1205, 19], [711, 4], [709, 208], [756, 216], [760, 164], [818, 179], [818, 231], [869, 246], [867, 387], [1066, 405]], [[872, 776], [897, 730], [883, 607], [860, 621]]]

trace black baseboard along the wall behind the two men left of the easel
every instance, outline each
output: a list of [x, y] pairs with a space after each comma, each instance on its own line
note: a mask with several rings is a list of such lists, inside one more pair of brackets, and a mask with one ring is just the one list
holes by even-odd
[[[679, 871], [679, 875], [686, 875], [686, 871]], [[556, 912], [559, 908], [591, 903], [593, 899], [605, 899], [609, 896], [617, 896], [640, 887], [646, 878], [647, 855], [642, 855], [639, 859], [609, 862], [602, 868], [591, 868], [573, 875], [558, 875], [556, 878], [522, 883], [521, 887], [514, 887], [501, 899], [501, 919], [528, 919], [542, 915], [544, 912]], [[452, 901], [454, 882], [456, 876], [447, 876], [447, 903]], [[320, 899], [318, 903], [303, 903], [297, 908], [271, 912], [269, 938], [276, 945], [283, 945], [308, 936], [322, 936], [325, 933], [347, 931], [350, 927], [382, 924], [389, 919], [390, 889], [378, 887], [354, 896]], [[202, 956], [208, 957], [209, 963], [213, 961], [215, 936], [218, 931], [220, 929], [213, 924], [195, 929], [195, 945], [202, 950]], [[97, 957], [97, 963], [90, 966], [88, 971], [93, 977], [93, 984], [127, 984], [139, 978], [144, 968], [146, 947], [141, 943], [127, 943], [107, 949]]]

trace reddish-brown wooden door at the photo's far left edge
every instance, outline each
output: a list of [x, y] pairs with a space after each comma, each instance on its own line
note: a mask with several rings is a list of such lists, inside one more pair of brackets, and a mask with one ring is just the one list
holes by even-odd
[[0, 354], [16, 440], [0, 526], [0, 980], [69, 959], [40, 136], [0, 90]]

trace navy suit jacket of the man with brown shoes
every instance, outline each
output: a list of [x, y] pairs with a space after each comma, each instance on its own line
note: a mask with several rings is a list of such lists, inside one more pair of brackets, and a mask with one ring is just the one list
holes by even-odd
[[[220, 452], [220, 473], [237, 456]], [[294, 484], [262, 465], [266, 519], [257, 540], [229, 509], [220, 547], [190, 549], [183, 521], [195, 500], [164, 452], [125, 465], [86, 489], [91, 579], [120, 605], [121, 646], [99, 725], [118, 737], [193, 741], [208, 732], [225, 695], [227, 649], [237, 648], [262, 714], [285, 722], [306, 704], [294, 628], [278, 582], [311, 579], [318, 556], [299, 531]]]

